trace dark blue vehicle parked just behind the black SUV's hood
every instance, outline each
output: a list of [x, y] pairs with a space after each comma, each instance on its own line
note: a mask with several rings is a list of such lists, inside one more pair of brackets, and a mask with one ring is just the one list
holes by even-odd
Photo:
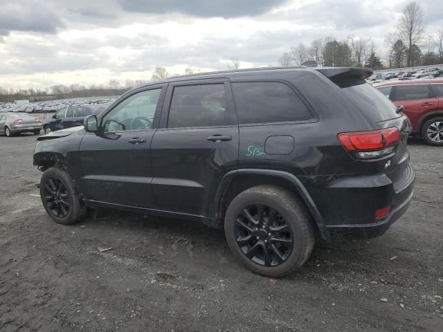
[[60, 129], [82, 126], [86, 116], [98, 114], [106, 107], [99, 104], [70, 105], [60, 108], [51, 118], [43, 120], [44, 133]]

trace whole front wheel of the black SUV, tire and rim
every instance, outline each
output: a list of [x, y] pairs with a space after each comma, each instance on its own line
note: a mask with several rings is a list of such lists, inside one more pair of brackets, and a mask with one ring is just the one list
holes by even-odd
[[87, 215], [87, 208], [80, 202], [77, 187], [63, 167], [46, 169], [40, 180], [40, 197], [44, 209], [56, 223], [70, 225]]

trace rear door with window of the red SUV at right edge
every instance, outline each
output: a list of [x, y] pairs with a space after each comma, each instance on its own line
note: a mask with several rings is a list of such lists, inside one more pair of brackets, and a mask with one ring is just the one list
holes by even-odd
[[424, 114], [438, 109], [438, 100], [432, 97], [429, 84], [399, 84], [392, 95], [392, 101], [397, 106], [404, 106], [404, 113], [408, 116], [415, 133], [420, 131], [419, 119]]

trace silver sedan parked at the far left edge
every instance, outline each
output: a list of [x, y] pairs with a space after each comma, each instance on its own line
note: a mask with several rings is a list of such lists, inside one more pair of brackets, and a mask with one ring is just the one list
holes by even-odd
[[42, 122], [37, 116], [27, 113], [0, 114], [0, 133], [6, 136], [15, 136], [17, 133], [34, 133], [38, 135], [42, 130]]

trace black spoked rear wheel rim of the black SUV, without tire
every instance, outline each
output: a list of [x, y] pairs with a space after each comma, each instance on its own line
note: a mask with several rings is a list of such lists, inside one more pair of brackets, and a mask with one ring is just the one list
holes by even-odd
[[244, 255], [260, 266], [278, 266], [291, 255], [291, 227], [270, 205], [246, 205], [237, 215], [234, 234]]

